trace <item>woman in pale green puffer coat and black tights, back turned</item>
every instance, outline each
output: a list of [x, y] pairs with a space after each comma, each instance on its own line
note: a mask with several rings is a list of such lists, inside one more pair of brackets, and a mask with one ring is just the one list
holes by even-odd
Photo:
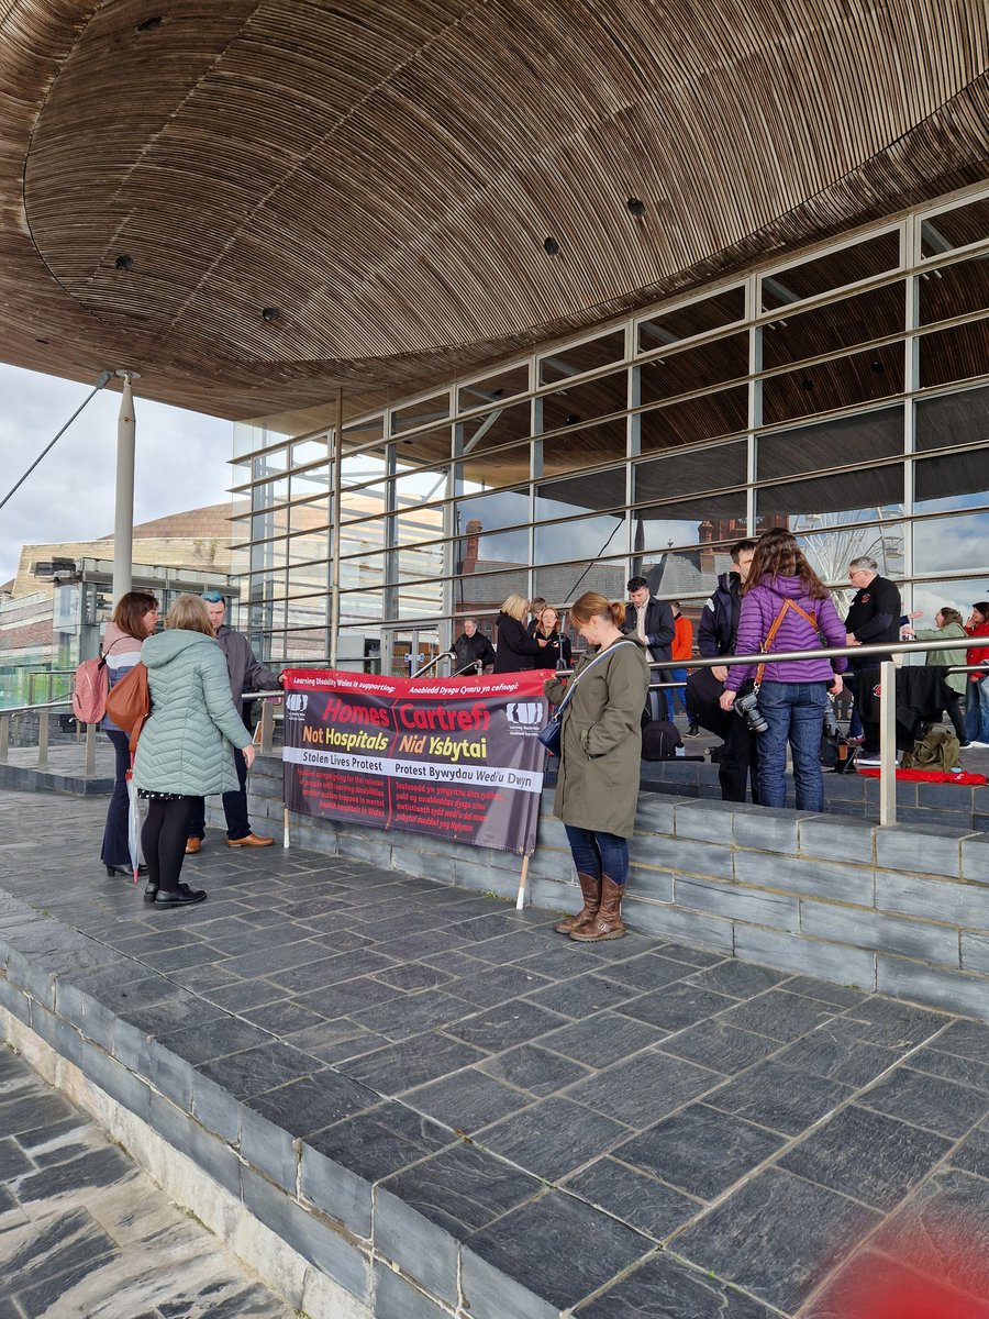
[[135, 783], [150, 802], [141, 830], [148, 863], [144, 901], [186, 906], [206, 897], [203, 889], [178, 880], [195, 799], [236, 791], [231, 747], [243, 751], [251, 769], [255, 745], [233, 708], [227, 661], [198, 596], [175, 600], [165, 632], [148, 638], [141, 660], [152, 696], [135, 756]]

